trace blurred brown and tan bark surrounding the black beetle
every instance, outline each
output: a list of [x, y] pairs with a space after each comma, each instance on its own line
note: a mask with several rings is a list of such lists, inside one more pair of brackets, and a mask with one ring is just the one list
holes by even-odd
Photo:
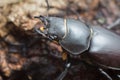
[[[49, 11], [45, 0], [0, 0], [0, 80], [54, 80], [64, 70], [61, 47], [31, 33], [38, 22], [34, 16], [79, 17], [104, 28], [120, 19], [120, 0], [48, 0], [48, 3]], [[111, 30], [120, 34], [120, 25]], [[74, 61], [64, 80], [107, 80], [94, 67]]]

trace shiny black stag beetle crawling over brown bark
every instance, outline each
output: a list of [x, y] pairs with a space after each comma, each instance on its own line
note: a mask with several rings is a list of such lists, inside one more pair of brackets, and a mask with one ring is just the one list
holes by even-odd
[[87, 55], [94, 65], [120, 70], [119, 35], [99, 26], [87, 25], [80, 20], [45, 16], [36, 18], [44, 26], [35, 28], [35, 31], [57, 41], [69, 55]]

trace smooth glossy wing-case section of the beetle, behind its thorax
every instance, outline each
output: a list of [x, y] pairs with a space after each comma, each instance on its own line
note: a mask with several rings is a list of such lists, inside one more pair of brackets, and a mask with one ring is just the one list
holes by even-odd
[[120, 36], [101, 27], [93, 27], [90, 55], [96, 63], [120, 70]]

